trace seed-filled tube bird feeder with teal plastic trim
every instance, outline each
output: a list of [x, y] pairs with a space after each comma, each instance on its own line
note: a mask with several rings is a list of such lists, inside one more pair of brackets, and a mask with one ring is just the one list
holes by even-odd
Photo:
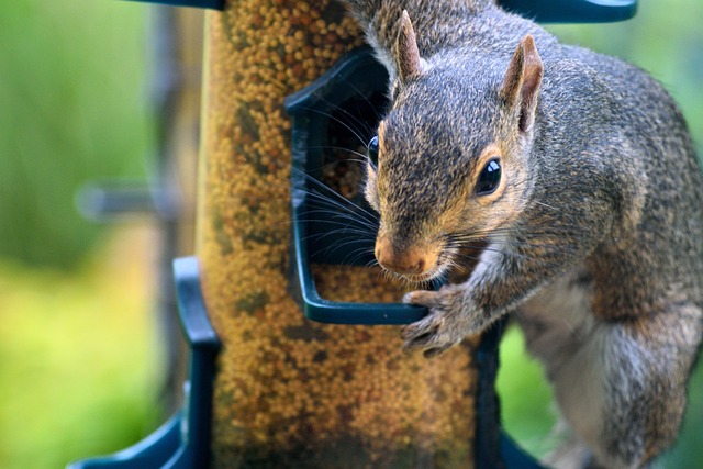
[[[180, 427], [163, 429], [172, 455], [148, 467], [537, 467], [500, 433], [500, 327], [433, 360], [400, 351], [397, 325], [426, 311], [398, 303], [402, 286], [368, 267], [375, 222], [356, 154], [387, 108], [388, 76], [344, 7], [177, 3], [222, 9], [207, 15], [196, 257], [177, 264], [190, 279], [179, 295], [200, 299], [180, 303], [190, 343], [191, 327], [209, 331], [208, 356], [220, 353], [214, 377], [191, 368], [212, 400], [187, 401]], [[503, 3], [616, 21], [636, 1]], [[136, 467], [118, 459], [74, 467]]]

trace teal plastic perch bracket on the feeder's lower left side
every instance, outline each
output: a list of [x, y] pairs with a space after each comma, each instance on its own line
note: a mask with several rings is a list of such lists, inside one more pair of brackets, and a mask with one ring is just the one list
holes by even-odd
[[67, 469], [200, 469], [210, 459], [212, 381], [220, 340], [200, 290], [196, 257], [174, 261], [183, 335], [190, 345], [190, 378], [182, 409], [152, 435], [114, 455], [83, 459]]

